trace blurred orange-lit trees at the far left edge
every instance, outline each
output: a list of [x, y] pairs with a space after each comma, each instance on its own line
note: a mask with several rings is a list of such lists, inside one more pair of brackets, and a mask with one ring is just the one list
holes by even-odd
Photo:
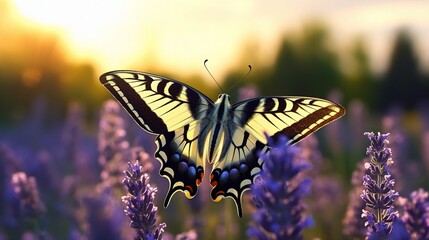
[[25, 26], [2, 31], [7, 34], [0, 47], [1, 126], [25, 120], [37, 99], [47, 104], [47, 124], [64, 117], [71, 101], [98, 112], [108, 94], [92, 65], [69, 62], [54, 34]]

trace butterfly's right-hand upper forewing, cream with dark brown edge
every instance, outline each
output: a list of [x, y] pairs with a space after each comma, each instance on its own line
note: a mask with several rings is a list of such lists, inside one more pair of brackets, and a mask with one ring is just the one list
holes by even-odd
[[345, 114], [341, 105], [312, 97], [261, 97], [231, 109], [234, 122], [263, 143], [266, 134], [274, 139], [284, 135], [294, 144]]

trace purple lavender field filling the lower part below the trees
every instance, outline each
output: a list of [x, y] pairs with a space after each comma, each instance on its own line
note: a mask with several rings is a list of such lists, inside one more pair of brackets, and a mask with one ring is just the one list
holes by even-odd
[[[247, 192], [240, 219], [229, 199], [209, 200], [207, 182], [196, 198], [176, 194], [164, 209], [168, 182], [153, 158], [154, 137], [115, 101], [104, 102], [95, 123], [85, 120], [82, 106], [71, 104], [65, 121], [49, 124], [48, 109], [38, 102], [25, 123], [1, 133], [1, 237], [363, 239], [368, 231], [391, 231], [388, 239], [427, 239], [425, 109], [372, 119], [354, 102], [347, 117], [317, 137], [279, 146], [275, 157], [264, 158], [266, 173]], [[404, 121], [413, 122], [414, 134]], [[278, 184], [284, 186], [270, 188]], [[386, 239], [374, 234], [370, 239]]]

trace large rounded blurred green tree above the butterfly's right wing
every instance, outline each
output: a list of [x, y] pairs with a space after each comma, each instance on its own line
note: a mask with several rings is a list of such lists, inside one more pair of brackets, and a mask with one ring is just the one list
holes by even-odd
[[272, 75], [258, 83], [264, 95], [326, 97], [340, 87], [341, 78], [327, 30], [319, 23], [310, 23], [301, 36], [283, 40]]

